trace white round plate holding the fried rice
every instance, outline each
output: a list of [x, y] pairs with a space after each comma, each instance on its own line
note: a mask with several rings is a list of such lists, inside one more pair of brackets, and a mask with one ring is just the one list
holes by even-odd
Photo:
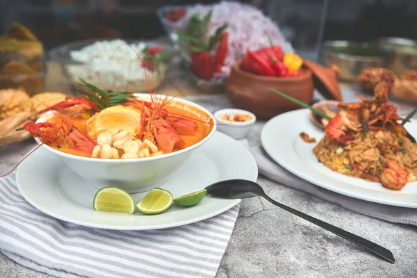
[[[417, 121], [404, 125], [417, 138]], [[306, 143], [301, 132], [316, 138], [316, 143]], [[417, 208], [417, 181], [407, 183], [401, 190], [389, 190], [381, 183], [348, 177], [325, 167], [313, 154], [313, 148], [325, 135], [309, 120], [309, 110], [300, 109], [273, 117], [261, 132], [265, 152], [282, 167], [296, 176], [336, 193], [379, 204]]]

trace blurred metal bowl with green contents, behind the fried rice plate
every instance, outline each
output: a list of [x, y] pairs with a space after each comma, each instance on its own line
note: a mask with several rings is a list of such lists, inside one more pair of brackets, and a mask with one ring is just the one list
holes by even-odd
[[374, 44], [333, 40], [322, 47], [322, 62], [328, 67], [338, 67], [338, 78], [357, 81], [368, 67], [386, 67], [388, 54]]

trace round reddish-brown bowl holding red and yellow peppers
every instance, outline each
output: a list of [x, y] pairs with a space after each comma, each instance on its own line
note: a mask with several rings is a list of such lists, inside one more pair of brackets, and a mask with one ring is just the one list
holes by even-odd
[[250, 111], [256, 117], [270, 119], [280, 113], [302, 108], [270, 88], [284, 92], [305, 104], [313, 99], [313, 78], [310, 70], [303, 68], [299, 76], [272, 77], [261, 76], [240, 70], [238, 61], [231, 68], [226, 85], [226, 94], [234, 108]]

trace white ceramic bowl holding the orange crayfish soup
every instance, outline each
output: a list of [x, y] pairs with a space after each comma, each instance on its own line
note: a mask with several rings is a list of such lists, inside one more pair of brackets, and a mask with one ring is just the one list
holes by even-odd
[[[149, 100], [149, 94], [136, 94], [136, 97]], [[157, 95], [157, 97], [161, 97]], [[165, 97], [165, 96], [163, 96]], [[216, 129], [215, 117], [202, 106], [175, 98], [176, 104], [181, 104], [188, 111], [197, 113], [197, 120], [209, 122], [206, 136], [199, 142], [176, 152], [133, 159], [104, 159], [76, 156], [60, 152], [53, 147], [44, 144], [42, 147], [55, 154], [68, 167], [83, 179], [90, 182], [91, 186], [99, 189], [106, 186], [123, 188], [129, 193], [140, 193], [161, 186], [187, 161], [187, 159], [211, 139]], [[54, 115], [49, 111], [42, 115], [37, 122], [47, 122]], [[35, 140], [42, 143], [39, 138]]]

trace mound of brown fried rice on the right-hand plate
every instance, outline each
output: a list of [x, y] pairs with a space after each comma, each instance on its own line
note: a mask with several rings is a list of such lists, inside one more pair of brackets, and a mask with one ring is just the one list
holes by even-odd
[[417, 144], [409, 138], [386, 130], [352, 136], [343, 146], [325, 136], [313, 153], [326, 167], [347, 176], [380, 181], [386, 162], [393, 160], [407, 172], [407, 182], [417, 180]]

